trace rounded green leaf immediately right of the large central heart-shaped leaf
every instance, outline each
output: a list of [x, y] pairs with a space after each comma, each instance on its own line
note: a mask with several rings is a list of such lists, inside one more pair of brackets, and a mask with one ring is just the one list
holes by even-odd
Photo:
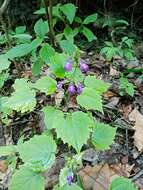
[[106, 150], [114, 142], [116, 128], [104, 123], [95, 123], [92, 134], [92, 143], [99, 150]]

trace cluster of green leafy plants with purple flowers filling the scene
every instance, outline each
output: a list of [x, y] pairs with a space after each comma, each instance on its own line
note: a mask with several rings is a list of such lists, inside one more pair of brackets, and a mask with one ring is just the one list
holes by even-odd
[[[45, 13], [45, 8], [35, 12]], [[75, 13], [76, 7], [70, 3], [53, 7], [53, 27], [59, 20], [65, 22], [65, 18], [67, 19], [63, 33], [54, 36], [54, 44], [49, 43], [47, 34], [51, 29], [47, 20], [40, 18], [34, 26], [35, 39], [26, 33], [25, 27], [17, 27], [10, 33], [10, 38], [15, 39], [16, 45], [0, 55], [1, 89], [5, 81], [11, 77], [12, 63], [15, 63], [18, 72], [21, 70], [18, 63], [21, 57], [30, 57], [32, 74], [35, 76], [34, 80], [15, 79], [12, 93], [7, 96], [1, 94], [1, 120], [6, 125], [9, 124], [9, 116], [12, 116], [13, 112], [26, 114], [36, 109], [37, 93], [44, 93], [50, 97], [62, 90], [66, 101], [73, 96], [78, 106], [73, 112], [65, 112], [62, 106], [57, 105], [43, 107], [41, 112], [44, 114], [45, 130], [41, 135], [35, 135], [24, 142], [20, 139], [17, 145], [0, 148], [0, 155], [9, 155], [9, 164], [14, 171], [10, 190], [44, 190], [43, 173], [49, 171], [55, 162], [58, 139], [68, 145], [71, 154], [66, 158], [65, 167], [60, 172], [59, 184], [54, 190], [81, 190], [77, 171], [82, 164], [84, 145], [88, 143], [96, 149], [106, 150], [114, 141], [116, 128], [96, 121], [93, 117], [95, 111], [104, 113], [102, 94], [108, 90], [110, 84], [88, 74], [88, 63], [80, 57], [80, 50], [74, 43], [74, 37], [79, 32], [89, 42], [96, 39], [86, 25], [95, 22], [97, 14], [90, 15], [82, 21]], [[80, 26], [72, 29], [74, 21]], [[57, 44], [62, 52], [57, 51], [57, 46], [54, 48]], [[41, 75], [43, 66], [49, 69], [48, 74], [44, 76]], [[18, 169], [17, 158], [21, 159]], [[109, 189], [136, 188], [129, 180], [118, 178]]]

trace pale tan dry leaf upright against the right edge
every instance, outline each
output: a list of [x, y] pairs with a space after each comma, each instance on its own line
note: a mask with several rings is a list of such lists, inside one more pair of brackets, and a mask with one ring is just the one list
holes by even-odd
[[143, 115], [135, 108], [129, 115], [130, 121], [135, 121], [135, 146], [139, 151], [143, 150]]

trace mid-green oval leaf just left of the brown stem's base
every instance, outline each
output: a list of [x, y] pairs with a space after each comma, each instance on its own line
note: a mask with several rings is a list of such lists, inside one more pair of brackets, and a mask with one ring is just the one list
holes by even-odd
[[45, 63], [49, 63], [49, 57], [55, 55], [55, 50], [49, 45], [45, 44], [41, 49], [40, 49], [40, 57]]

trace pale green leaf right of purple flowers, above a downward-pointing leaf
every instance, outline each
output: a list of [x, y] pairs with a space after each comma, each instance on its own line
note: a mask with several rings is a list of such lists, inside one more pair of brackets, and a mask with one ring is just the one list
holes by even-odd
[[103, 80], [96, 79], [94, 76], [87, 76], [84, 81], [85, 86], [95, 89], [99, 94], [103, 94], [111, 86]]

